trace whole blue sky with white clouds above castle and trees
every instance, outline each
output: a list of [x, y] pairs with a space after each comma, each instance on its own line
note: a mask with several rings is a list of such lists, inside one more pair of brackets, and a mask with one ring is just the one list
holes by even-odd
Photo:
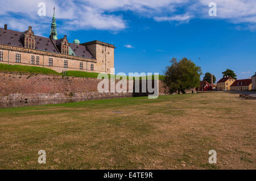
[[[38, 15], [39, 2], [45, 2], [46, 16]], [[216, 2], [217, 16], [209, 16], [209, 2]], [[116, 73], [163, 74], [172, 57], [190, 58], [217, 80], [226, 69], [238, 79], [256, 71], [254, 0], [11, 0], [0, 7], [1, 27], [25, 31], [31, 25], [36, 35], [48, 36], [53, 6], [59, 38], [117, 47]]]

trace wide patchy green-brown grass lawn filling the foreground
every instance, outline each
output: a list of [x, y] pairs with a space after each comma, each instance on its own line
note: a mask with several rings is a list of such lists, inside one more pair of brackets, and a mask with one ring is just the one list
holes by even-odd
[[4, 108], [0, 169], [256, 169], [255, 107], [216, 91]]

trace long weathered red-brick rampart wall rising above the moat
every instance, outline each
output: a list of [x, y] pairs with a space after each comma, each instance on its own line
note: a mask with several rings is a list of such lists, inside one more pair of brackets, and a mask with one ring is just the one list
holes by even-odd
[[[97, 86], [100, 81], [97, 78], [0, 73], [0, 102], [36, 102], [39, 100], [132, 96], [132, 93], [129, 92], [98, 92]], [[127, 82], [127, 89], [129, 89], [129, 82]]]

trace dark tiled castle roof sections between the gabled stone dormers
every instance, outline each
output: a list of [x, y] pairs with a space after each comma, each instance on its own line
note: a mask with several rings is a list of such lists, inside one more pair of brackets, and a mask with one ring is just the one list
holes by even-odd
[[[18, 32], [13, 30], [5, 30], [5, 28], [0, 28], [0, 44], [24, 48], [22, 37], [24, 37], [25, 32], [26, 31]], [[51, 40], [47, 37], [35, 35], [35, 49], [59, 53], [56, 45], [60, 44], [61, 40], [62, 39]], [[69, 45], [75, 53], [74, 56], [95, 59], [85, 45], [78, 45], [72, 43], [69, 43]]]

